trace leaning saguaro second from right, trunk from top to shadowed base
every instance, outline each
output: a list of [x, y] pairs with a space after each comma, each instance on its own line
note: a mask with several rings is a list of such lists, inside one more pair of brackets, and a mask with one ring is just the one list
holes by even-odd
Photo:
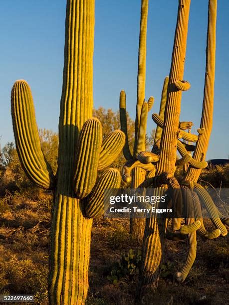
[[[167, 87], [167, 99], [164, 111], [162, 135], [160, 141], [160, 159], [156, 164], [156, 176], [161, 178], [161, 186], [179, 187], [173, 178], [176, 168], [176, 152], [181, 110], [182, 91], [189, 89], [188, 82], [183, 81], [186, 43], [188, 34], [190, 0], [179, 0], [177, 25], [174, 38], [172, 62]], [[166, 80], [165, 80], [166, 83]], [[163, 105], [161, 105], [163, 109]], [[153, 115], [153, 119], [155, 116]], [[157, 118], [157, 117], [156, 117]], [[169, 179], [172, 179], [169, 181]], [[157, 194], [163, 187], [156, 188]], [[159, 278], [159, 267], [163, 251], [167, 221], [157, 219], [155, 215], [146, 219], [143, 240], [142, 269], [138, 282], [138, 295], [147, 288], [155, 289]], [[178, 226], [179, 224], [177, 224]]]

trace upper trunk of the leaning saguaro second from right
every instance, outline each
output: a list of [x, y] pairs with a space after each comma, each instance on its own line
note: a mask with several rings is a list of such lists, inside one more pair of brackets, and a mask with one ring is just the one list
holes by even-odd
[[165, 123], [160, 145], [161, 158], [158, 163], [157, 174], [163, 171], [168, 171], [170, 174], [173, 174], [175, 170], [182, 91], [175, 90], [173, 83], [176, 80], [183, 79], [184, 75], [189, 9], [190, 0], [179, 0], [177, 26], [167, 90]]

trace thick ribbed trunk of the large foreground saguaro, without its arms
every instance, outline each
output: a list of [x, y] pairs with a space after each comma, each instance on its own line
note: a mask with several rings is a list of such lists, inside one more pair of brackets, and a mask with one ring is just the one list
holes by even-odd
[[65, 22], [49, 298], [51, 304], [84, 304], [88, 290], [92, 219], [82, 214], [82, 202], [72, 189], [72, 177], [79, 133], [85, 121], [92, 117], [94, 0], [68, 0]]

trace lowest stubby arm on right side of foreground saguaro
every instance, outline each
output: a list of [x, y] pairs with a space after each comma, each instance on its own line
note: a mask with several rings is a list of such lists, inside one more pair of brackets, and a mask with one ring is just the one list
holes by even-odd
[[[109, 168], [104, 171], [101, 178], [96, 182], [89, 196], [85, 198], [86, 207], [85, 214], [88, 218], [98, 215], [104, 206], [104, 190], [111, 188], [119, 188], [121, 183], [121, 175], [115, 168]], [[107, 194], [106, 194], [107, 195]]]

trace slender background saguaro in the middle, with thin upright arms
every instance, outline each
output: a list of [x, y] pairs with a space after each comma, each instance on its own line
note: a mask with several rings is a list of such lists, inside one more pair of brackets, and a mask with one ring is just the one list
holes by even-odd
[[[126, 118], [126, 94], [124, 90], [120, 93], [120, 122], [121, 130], [126, 135], [126, 142], [123, 154], [127, 159], [123, 171], [127, 169], [128, 174], [123, 173], [125, 182], [131, 181], [131, 187], [137, 188], [146, 178], [148, 173], [154, 168], [153, 165], [144, 165], [141, 160], [137, 159], [139, 152], [145, 151], [147, 114], [153, 106], [154, 98], [150, 97], [148, 103], [145, 102], [145, 83], [146, 83], [146, 34], [147, 34], [147, 16], [148, 0], [141, 2], [141, 19], [139, 34], [139, 51], [138, 51], [138, 77], [137, 77], [137, 105], [135, 120], [135, 141], [133, 155], [129, 149], [127, 136], [127, 118]], [[130, 219], [130, 233], [134, 238], [142, 239], [144, 232], [144, 219]]]

